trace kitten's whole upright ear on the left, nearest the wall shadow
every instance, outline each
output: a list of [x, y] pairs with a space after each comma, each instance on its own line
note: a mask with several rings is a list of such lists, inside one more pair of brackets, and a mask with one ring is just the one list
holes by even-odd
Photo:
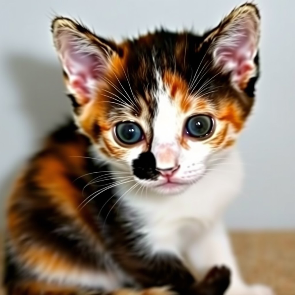
[[53, 20], [52, 33], [69, 94], [75, 104], [85, 105], [94, 99], [99, 81], [117, 54], [116, 45], [63, 17]]

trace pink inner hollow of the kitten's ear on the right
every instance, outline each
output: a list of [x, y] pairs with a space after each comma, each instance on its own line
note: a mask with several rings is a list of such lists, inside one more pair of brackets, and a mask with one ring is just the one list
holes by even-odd
[[255, 38], [246, 24], [230, 33], [218, 42], [215, 58], [218, 65], [232, 73], [232, 81], [240, 84], [254, 69]]

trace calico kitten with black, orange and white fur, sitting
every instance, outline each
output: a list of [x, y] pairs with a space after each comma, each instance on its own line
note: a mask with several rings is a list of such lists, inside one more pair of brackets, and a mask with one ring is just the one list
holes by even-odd
[[242, 281], [221, 221], [242, 181], [256, 6], [201, 36], [117, 44], [63, 17], [52, 32], [75, 124], [48, 137], [9, 200], [8, 294], [272, 294]]

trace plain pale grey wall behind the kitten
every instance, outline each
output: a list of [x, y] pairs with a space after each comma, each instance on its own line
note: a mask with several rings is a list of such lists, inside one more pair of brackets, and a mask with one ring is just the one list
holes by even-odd
[[[262, 76], [255, 111], [239, 142], [247, 175], [245, 186], [227, 221], [232, 228], [295, 228], [295, 2], [256, 2], [262, 14]], [[101, 36], [120, 40], [160, 24], [202, 32], [238, 4], [238, 0], [2, 1], [2, 219], [16, 171], [46, 132], [69, 114], [50, 35], [50, 19], [55, 14], [80, 18]]]

